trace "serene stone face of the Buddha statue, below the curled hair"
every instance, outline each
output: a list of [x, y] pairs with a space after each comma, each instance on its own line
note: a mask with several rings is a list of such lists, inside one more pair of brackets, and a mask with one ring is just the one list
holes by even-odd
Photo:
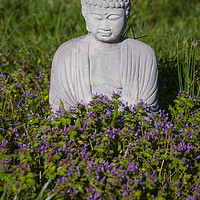
[[87, 29], [101, 42], [117, 42], [125, 30], [126, 22], [126, 10], [124, 8], [86, 6]]

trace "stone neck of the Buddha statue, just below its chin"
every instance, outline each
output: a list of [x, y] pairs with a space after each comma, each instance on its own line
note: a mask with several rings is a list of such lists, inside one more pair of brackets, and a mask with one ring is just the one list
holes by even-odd
[[119, 39], [118, 42], [115, 43], [106, 43], [106, 42], [101, 42], [97, 40], [92, 34], [89, 34], [89, 37], [91, 38], [91, 45], [97, 49], [103, 50], [103, 51], [114, 51], [120, 48], [120, 43], [123, 41], [123, 37]]

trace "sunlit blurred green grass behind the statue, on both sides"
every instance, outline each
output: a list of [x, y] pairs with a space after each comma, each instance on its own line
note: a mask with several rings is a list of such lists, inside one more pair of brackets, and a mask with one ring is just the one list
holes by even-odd
[[[128, 36], [146, 36], [141, 40], [156, 50], [159, 60], [176, 55], [178, 37], [182, 43], [184, 38], [199, 39], [198, 0], [138, 0], [134, 4], [129, 24], [138, 17]], [[2, 0], [0, 11], [1, 49], [27, 50], [26, 43], [41, 51], [55, 51], [64, 41], [86, 33], [78, 0]]]

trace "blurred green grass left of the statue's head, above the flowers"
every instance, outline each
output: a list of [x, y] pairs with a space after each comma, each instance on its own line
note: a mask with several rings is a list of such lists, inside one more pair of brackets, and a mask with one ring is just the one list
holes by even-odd
[[84, 33], [78, 1], [3, 0], [0, 9], [1, 49], [28, 53], [27, 44], [39, 52], [55, 51], [64, 41]]

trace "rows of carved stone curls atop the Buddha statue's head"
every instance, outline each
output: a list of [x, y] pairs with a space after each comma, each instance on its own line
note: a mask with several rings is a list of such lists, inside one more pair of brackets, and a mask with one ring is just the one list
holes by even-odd
[[129, 8], [130, 0], [82, 0], [84, 5], [93, 5], [99, 8]]

